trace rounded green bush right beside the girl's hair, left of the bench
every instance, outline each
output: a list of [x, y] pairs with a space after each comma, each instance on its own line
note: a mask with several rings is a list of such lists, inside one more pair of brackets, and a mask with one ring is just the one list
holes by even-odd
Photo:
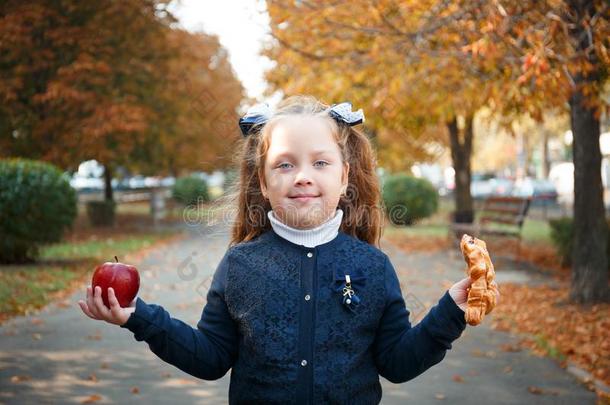
[[438, 209], [438, 193], [427, 180], [404, 173], [385, 178], [382, 197], [386, 214], [395, 225], [411, 225]]

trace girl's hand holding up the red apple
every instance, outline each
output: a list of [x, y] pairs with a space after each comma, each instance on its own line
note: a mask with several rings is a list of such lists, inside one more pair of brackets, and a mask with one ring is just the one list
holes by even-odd
[[96, 286], [92, 293], [91, 286], [89, 286], [87, 287], [87, 300], [79, 300], [78, 305], [89, 318], [120, 326], [124, 325], [129, 316], [136, 310], [136, 300], [137, 297], [131, 301], [127, 308], [122, 308], [114, 295], [114, 289], [108, 288], [108, 301], [110, 303], [110, 308], [108, 308], [102, 301], [102, 288]]

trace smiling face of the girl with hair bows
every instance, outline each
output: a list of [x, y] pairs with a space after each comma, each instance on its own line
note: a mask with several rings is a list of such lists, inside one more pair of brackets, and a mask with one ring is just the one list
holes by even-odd
[[297, 229], [329, 220], [347, 188], [349, 173], [331, 124], [321, 117], [289, 116], [269, 135], [261, 190], [275, 216]]

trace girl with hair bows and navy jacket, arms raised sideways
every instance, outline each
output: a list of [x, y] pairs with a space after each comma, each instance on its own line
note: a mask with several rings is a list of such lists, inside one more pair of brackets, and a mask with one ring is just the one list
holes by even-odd
[[87, 289], [82, 310], [146, 341], [205, 380], [229, 369], [229, 403], [377, 404], [379, 375], [408, 381], [440, 362], [464, 330], [468, 278], [411, 327], [379, 250], [380, 190], [362, 111], [292, 97], [252, 109], [237, 218], [197, 328], [141, 298], [121, 308]]

